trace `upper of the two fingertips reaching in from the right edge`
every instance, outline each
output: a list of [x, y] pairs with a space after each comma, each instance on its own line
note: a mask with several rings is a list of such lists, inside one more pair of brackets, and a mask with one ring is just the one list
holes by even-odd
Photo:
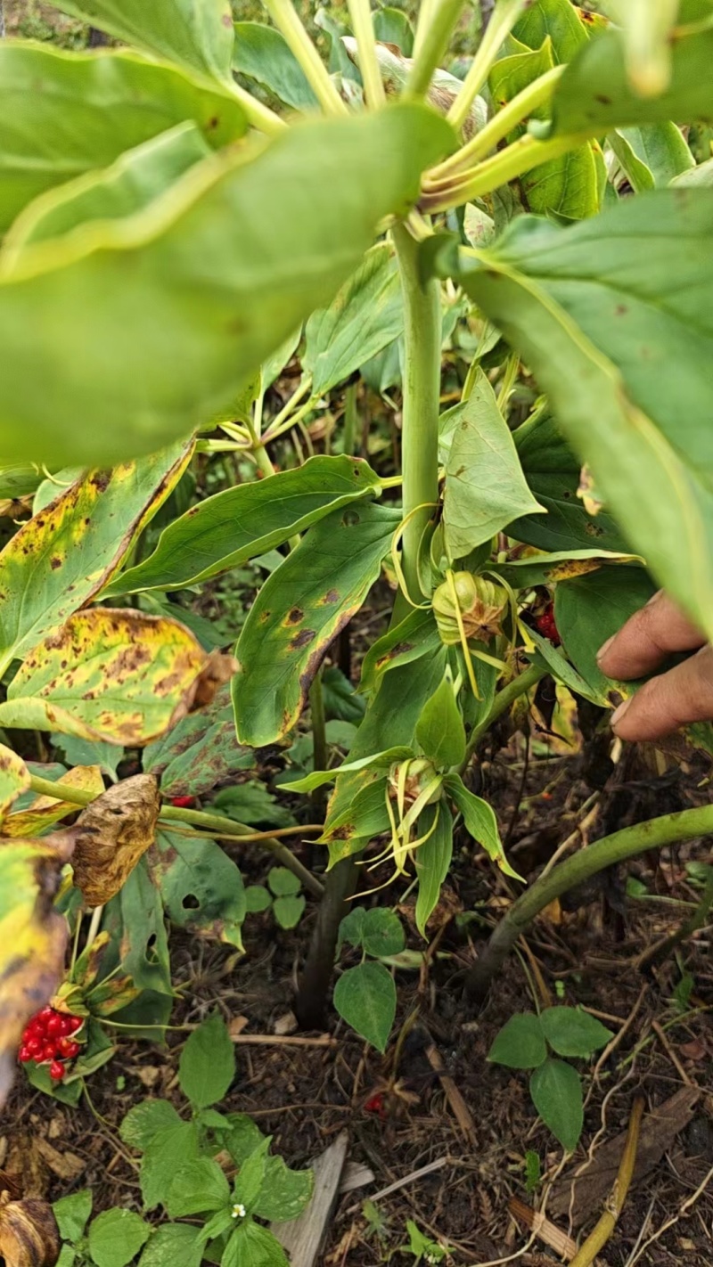
[[705, 639], [660, 589], [600, 649], [596, 663], [608, 678], [626, 682], [652, 673], [671, 651], [693, 651]]

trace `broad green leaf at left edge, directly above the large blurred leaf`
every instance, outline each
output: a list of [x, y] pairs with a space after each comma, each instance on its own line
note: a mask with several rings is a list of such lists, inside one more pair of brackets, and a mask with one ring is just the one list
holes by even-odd
[[[129, 52], [0, 47], [0, 229], [38, 194], [106, 167], [125, 150], [192, 119], [219, 148], [246, 119], [237, 101], [174, 66]], [[156, 446], [155, 446], [156, 447]]]

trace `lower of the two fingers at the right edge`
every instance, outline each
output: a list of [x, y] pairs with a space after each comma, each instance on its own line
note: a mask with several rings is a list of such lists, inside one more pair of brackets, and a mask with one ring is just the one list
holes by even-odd
[[713, 647], [651, 678], [612, 717], [619, 739], [662, 739], [691, 721], [713, 720]]

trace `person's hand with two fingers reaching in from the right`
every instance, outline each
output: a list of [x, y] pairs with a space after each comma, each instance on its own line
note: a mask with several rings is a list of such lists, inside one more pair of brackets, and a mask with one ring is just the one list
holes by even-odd
[[599, 668], [622, 682], [653, 673], [672, 653], [698, 647], [619, 704], [612, 716], [619, 739], [661, 739], [689, 722], [713, 720], [713, 646], [661, 589], [600, 647]]

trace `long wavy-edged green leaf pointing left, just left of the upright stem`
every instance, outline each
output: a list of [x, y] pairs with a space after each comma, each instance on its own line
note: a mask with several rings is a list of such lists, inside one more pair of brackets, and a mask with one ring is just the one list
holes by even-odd
[[282, 545], [331, 511], [377, 492], [371, 468], [346, 456], [310, 457], [272, 479], [237, 484], [174, 519], [153, 554], [117, 576], [105, 595], [182, 589], [209, 580]]

